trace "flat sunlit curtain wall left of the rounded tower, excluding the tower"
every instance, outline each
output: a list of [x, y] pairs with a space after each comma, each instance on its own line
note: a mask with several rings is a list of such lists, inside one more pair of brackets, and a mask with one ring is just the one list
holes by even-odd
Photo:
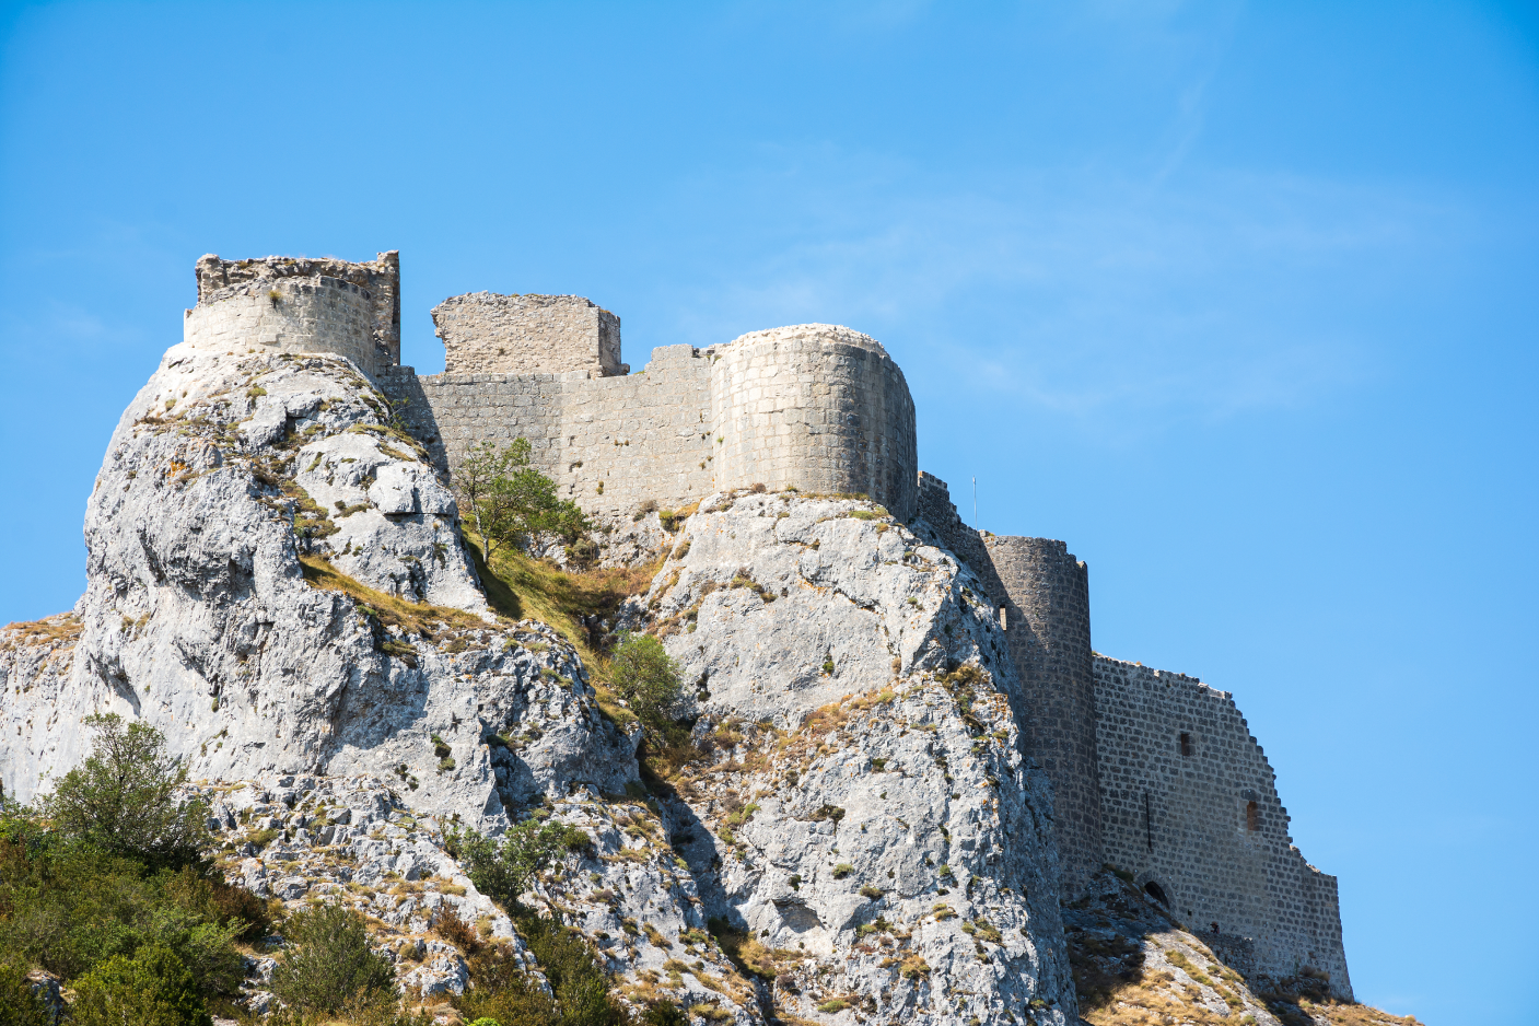
[[400, 368], [386, 394], [442, 466], [482, 441], [529, 440], [536, 465], [591, 514], [643, 501], [677, 508], [716, 489], [706, 423], [709, 366], [691, 346], [660, 346], [642, 374], [437, 374]]

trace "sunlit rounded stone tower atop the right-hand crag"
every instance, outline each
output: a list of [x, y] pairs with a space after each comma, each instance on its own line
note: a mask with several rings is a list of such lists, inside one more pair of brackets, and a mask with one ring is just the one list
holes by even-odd
[[754, 331], [706, 354], [717, 488], [917, 501], [914, 400], [876, 338], [836, 325]]

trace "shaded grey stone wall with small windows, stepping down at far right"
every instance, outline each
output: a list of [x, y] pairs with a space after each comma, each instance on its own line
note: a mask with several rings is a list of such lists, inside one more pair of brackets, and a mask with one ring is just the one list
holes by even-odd
[[1293, 846], [1276, 777], [1234, 698], [1100, 655], [1094, 675], [1107, 861], [1139, 886], [1153, 881], [1242, 972], [1313, 966], [1351, 997], [1336, 878]]

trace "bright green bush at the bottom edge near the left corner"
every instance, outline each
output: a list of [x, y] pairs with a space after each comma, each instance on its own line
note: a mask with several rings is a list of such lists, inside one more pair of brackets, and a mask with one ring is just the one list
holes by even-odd
[[165, 944], [114, 955], [75, 981], [74, 1026], [212, 1026], [192, 972]]

